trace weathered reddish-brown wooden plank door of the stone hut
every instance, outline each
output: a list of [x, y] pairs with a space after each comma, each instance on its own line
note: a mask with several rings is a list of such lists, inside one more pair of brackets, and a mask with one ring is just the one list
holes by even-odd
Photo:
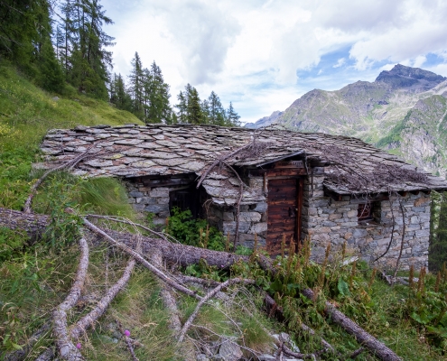
[[286, 247], [293, 238], [295, 244], [300, 237], [302, 189], [300, 180], [295, 178], [268, 180], [267, 210], [267, 252], [281, 253], [285, 236]]

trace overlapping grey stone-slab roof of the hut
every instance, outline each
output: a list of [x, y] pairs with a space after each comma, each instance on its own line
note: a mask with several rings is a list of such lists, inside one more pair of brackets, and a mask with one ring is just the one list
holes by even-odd
[[[229, 164], [259, 166], [301, 153], [308, 160], [331, 164], [325, 168], [327, 178], [324, 185], [339, 194], [365, 192], [353, 190], [346, 183], [346, 177], [340, 177], [340, 174], [346, 176], [350, 172], [354, 178], [377, 180], [378, 170], [382, 169], [397, 170], [394, 172], [397, 178], [393, 180], [395, 190], [447, 189], [446, 180], [418, 171], [395, 155], [357, 138], [321, 133], [304, 134], [279, 129], [260, 132], [213, 125], [79, 125], [71, 130], [51, 130], [41, 148], [47, 155], [46, 168], [67, 162], [89, 149], [88, 158], [79, 162], [73, 171], [77, 175], [127, 178], [191, 172], [200, 175], [208, 164], [250, 143], [254, 136], [256, 143], [261, 145], [257, 152], [239, 154], [228, 159]], [[347, 167], [350, 170], [347, 171]], [[408, 176], [404, 170], [413, 176]], [[203, 185], [218, 203], [234, 204], [236, 201], [239, 182], [224, 169], [212, 171]], [[387, 188], [380, 181], [376, 184], [373, 181], [368, 184], [368, 191], [387, 191]], [[263, 199], [263, 195], [245, 189], [243, 203]]]

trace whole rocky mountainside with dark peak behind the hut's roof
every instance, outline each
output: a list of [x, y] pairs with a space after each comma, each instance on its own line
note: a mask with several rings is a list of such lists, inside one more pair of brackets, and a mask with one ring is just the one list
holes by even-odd
[[271, 124], [359, 137], [426, 171], [447, 175], [447, 79], [431, 71], [397, 64], [373, 82], [313, 89], [284, 112], [246, 126]]

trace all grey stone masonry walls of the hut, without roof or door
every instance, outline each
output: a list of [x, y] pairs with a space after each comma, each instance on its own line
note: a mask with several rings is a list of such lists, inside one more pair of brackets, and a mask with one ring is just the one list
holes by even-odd
[[[340, 201], [324, 196], [323, 176], [313, 176], [305, 180], [303, 191], [302, 235], [312, 240], [312, 258], [316, 261], [324, 256], [326, 246], [340, 249], [346, 241], [350, 252], [368, 262], [386, 251], [391, 240], [393, 215], [390, 202], [384, 200], [375, 205], [374, 220], [359, 222], [359, 199], [344, 196]], [[250, 188], [262, 191], [262, 178], [246, 180]], [[143, 183], [127, 182], [129, 203], [136, 211], [154, 213], [154, 224], [163, 225], [169, 217], [169, 192], [184, 189], [177, 187], [146, 187]], [[266, 194], [265, 194], [266, 196]], [[424, 193], [408, 194], [401, 198], [405, 209], [404, 250], [401, 268], [411, 264], [416, 268], [428, 265], [428, 245], [430, 236], [430, 197]], [[392, 200], [395, 215], [395, 230], [392, 245], [387, 254], [378, 261], [385, 268], [393, 268], [400, 252], [404, 221], [397, 199]], [[224, 235], [234, 240], [236, 230], [236, 209], [232, 206], [210, 204], [206, 208], [211, 226], [218, 227]], [[239, 218], [239, 245], [253, 247], [255, 234], [258, 245], [265, 247], [267, 236], [267, 203], [242, 204]]]

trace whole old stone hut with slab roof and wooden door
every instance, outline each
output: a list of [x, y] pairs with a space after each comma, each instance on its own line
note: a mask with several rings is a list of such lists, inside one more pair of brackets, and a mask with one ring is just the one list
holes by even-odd
[[378, 262], [391, 266], [403, 239], [403, 267], [426, 266], [430, 192], [447, 190], [446, 180], [359, 139], [275, 128], [78, 126], [51, 130], [42, 152], [45, 167], [86, 153], [74, 174], [125, 180], [129, 202], [156, 224], [173, 207], [190, 208], [239, 244], [256, 235], [271, 255], [283, 238], [309, 236], [317, 260], [328, 243], [346, 241], [370, 262], [386, 253]]

